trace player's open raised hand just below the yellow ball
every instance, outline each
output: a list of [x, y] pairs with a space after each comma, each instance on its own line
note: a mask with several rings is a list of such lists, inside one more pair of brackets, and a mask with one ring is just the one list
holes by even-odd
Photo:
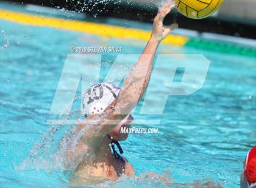
[[176, 29], [178, 24], [171, 24], [169, 26], [163, 25], [163, 19], [168, 13], [175, 7], [175, 4], [172, 4], [171, 1], [168, 1], [163, 7], [158, 11], [157, 16], [154, 18], [154, 26], [152, 30], [152, 39], [161, 42], [166, 36], [174, 29]]

